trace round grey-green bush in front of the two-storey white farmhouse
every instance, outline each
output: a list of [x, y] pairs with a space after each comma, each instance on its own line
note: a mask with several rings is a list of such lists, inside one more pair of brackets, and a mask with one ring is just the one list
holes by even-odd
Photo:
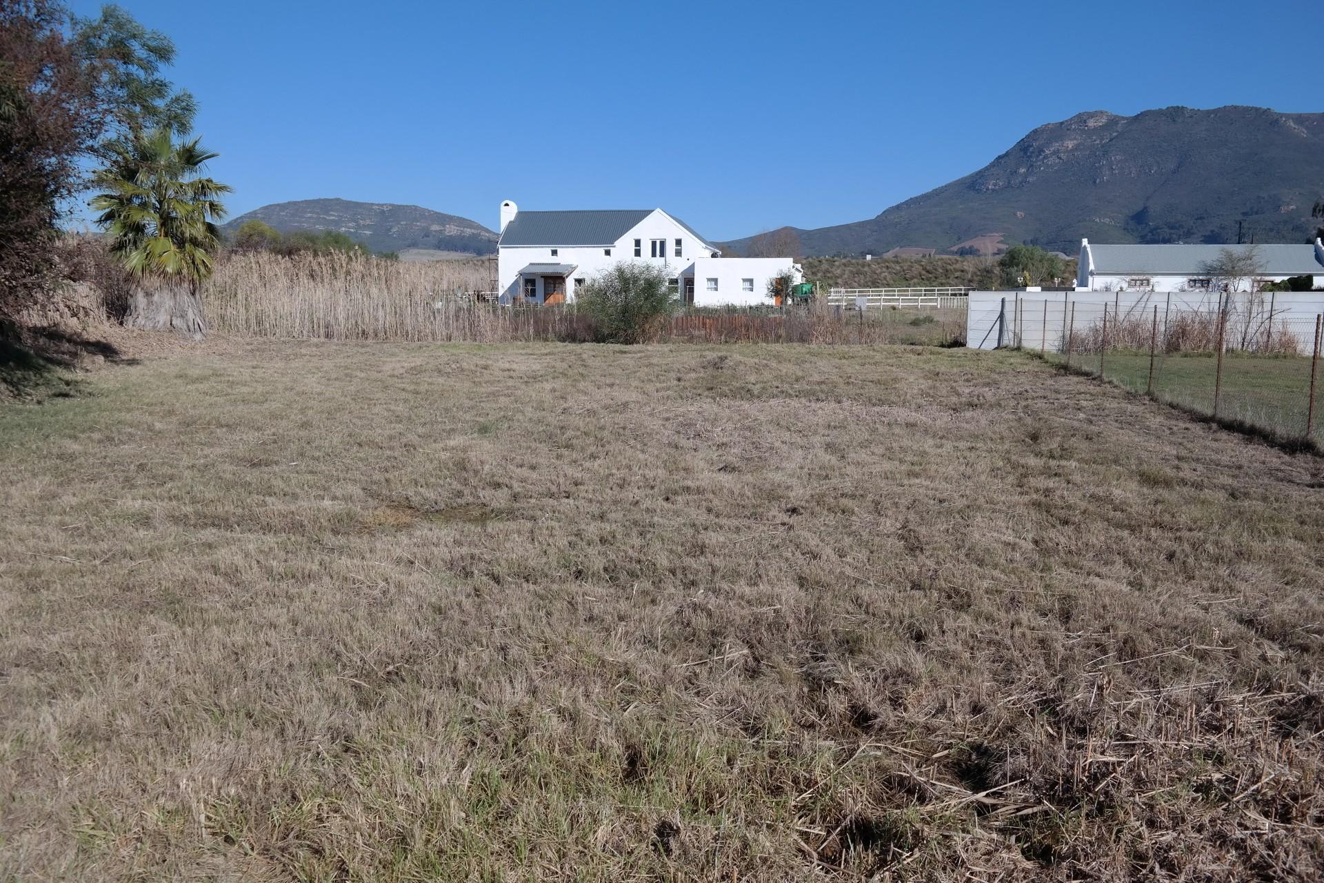
[[591, 278], [575, 304], [592, 319], [597, 342], [642, 343], [658, 334], [678, 299], [662, 267], [621, 261]]

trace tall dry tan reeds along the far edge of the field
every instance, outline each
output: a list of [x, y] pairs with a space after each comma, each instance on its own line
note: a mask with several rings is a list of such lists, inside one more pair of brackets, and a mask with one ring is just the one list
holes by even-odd
[[[396, 262], [346, 254], [230, 254], [203, 297], [212, 327], [240, 338], [395, 342], [584, 342], [593, 326], [573, 306], [499, 306], [485, 258]], [[662, 343], [922, 343], [964, 332], [964, 314], [882, 312], [863, 322], [816, 303], [777, 310], [691, 310], [663, 320]]]

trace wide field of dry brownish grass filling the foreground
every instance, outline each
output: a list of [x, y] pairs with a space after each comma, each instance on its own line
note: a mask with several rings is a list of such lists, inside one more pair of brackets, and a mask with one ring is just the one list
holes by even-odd
[[0, 879], [1319, 879], [1324, 461], [1013, 352], [0, 405]]

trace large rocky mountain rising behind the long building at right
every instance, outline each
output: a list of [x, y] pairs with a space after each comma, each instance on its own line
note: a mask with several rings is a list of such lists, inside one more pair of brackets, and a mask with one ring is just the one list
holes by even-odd
[[[806, 256], [898, 248], [997, 252], [1029, 242], [1303, 242], [1324, 196], [1324, 114], [1168, 107], [1078, 114], [992, 163], [854, 224], [796, 229]], [[751, 237], [752, 238], [752, 237]], [[743, 253], [749, 238], [722, 244]]]

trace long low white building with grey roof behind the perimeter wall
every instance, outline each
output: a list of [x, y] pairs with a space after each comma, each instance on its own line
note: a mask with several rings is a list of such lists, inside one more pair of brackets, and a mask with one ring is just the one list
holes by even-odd
[[1091, 245], [1080, 240], [1076, 287], [1087, 291], [1207, 291], [1226, 287], [1209, 265], [1223, 249], [1255, 249], [1260, 271], [1238, 290], [1294, 275], [1315, 277], [1324, 286], [1324, 242], [1315, 245]]

